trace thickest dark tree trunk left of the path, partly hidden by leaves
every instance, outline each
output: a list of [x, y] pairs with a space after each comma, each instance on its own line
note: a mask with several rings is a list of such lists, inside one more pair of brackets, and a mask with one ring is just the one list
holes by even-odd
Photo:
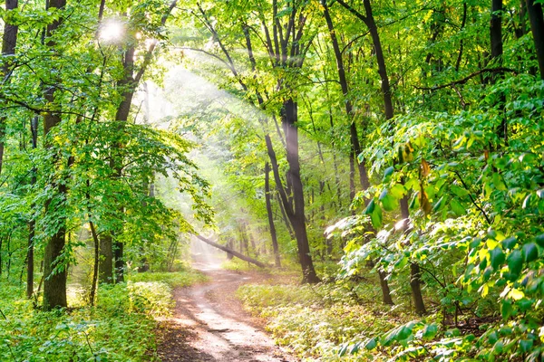
[[[50, 0], [49, 7], [63, 9], [66, 5], [66, 0]], [[57, 30], [60, 24], [62, 24], [63, 18], [53, 21], [52, 24], [47, 25], [47, 37], [51, 37], [53, 32]], [[49, 48], [54, 48], [55, 43], [51, 38], [47, 41], [46, 45]], [[55, 103], [55, 87], [50, 86], [45, 91], [44, 98], [52, 105]], [[58, 113], [47, 112], [44, 114], [44, 136], [47, 136], [49, 132], [61, 123], [61, 117]], [[46, 145], [46, 147], [51, 147]], [[52, 208], [58, 209], [62, 207], [67, 188], [63, 184], [55, 185], [56, 193], [58, 197], [56, 200], [49, 199], [45, 202], [45, 213], [52, 212]], [[53, 205], [52, 205], [53, 204]], [[62, 217], [62, 216], [61, 216]], [[63, 249], [65, 244], [66, 226], [65, 220], [59, 222], [60, 226], [58, 230], [50, 237], [45, 244], [44, 250], [44, 310], [53, 310], [54, 308], [65, 308], [66, 305], [66, 268], [67, 265], [59, 265], [63, 255]], [[58, 269], [57, 269], [58, 268]], [[57, 269], [57, 270], [55, 270]]]

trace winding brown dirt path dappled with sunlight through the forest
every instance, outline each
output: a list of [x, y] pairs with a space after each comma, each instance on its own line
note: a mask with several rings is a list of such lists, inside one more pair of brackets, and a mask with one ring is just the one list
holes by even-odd
[[242, 309], [234, 293], [241, 284], [262, 281], [257, 273], [196, 263], [210, 281], [174, 292], [176, 309], [159, 336], [163, 362], [293, 362]]

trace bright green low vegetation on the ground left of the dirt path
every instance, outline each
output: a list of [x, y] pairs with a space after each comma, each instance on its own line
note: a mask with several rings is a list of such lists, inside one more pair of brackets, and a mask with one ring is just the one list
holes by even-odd
[[154, 329], [170, 315], [172, 288], [205, 280], [190, 270], [131, 275], [101, 286], [94, 308], [71, 293], [70, 308], [52, 312], [35, 310], [24, 286], [0, 282], [0, 360], [159, 361]]

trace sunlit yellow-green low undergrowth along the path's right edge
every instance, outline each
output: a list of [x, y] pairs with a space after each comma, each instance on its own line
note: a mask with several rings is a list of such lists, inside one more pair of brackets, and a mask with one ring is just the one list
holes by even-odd
[[[361, 361], [373, 357], [343, 349], [413, 318], [407, 310], [385, 308], [374, 285], [244, 285], [238, 297], [267, 319], [277, 342], [305, 360]], [[341, 356], [343, 355], [343, 356]]]

